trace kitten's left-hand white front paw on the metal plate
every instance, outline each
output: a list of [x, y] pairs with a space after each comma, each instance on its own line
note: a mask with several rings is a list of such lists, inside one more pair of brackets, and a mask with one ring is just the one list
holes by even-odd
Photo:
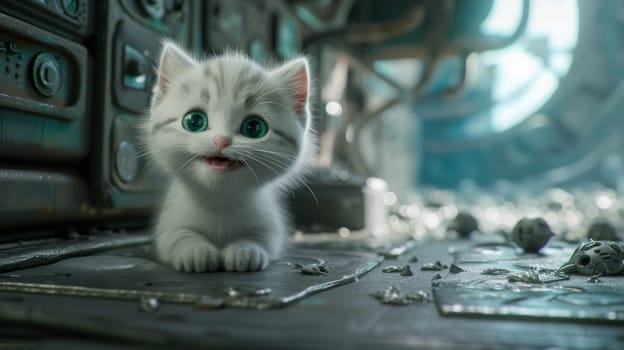
[[216, 271], [219, 268], [219, 251], [208, 242], [195, 240], [193, 244], [176, 247], [171, 263], [178, 271]]

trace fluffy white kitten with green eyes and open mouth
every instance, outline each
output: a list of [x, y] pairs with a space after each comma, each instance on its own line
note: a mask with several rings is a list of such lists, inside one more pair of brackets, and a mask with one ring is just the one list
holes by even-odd
[[197, 61], [164, 45], [143, 131], [171, 183], [155, 228], [158, 256], [181, 271], [256, 271], [289, 230], [282, 190], [312, 154], [308, 63], [265, 69], [227, 53]]

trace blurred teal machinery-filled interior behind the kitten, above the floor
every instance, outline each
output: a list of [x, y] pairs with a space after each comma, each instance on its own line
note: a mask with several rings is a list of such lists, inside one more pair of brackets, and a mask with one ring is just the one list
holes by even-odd
[[435, 236], [462, 210], [484, 231], [621, 220], [623, 25], [619, 0], [2, 1], [0, 227], [149, 222], [164, 184], [136, 125], [163, 38], [310, 58], [302, 231], [379, 217], [382, 233]]

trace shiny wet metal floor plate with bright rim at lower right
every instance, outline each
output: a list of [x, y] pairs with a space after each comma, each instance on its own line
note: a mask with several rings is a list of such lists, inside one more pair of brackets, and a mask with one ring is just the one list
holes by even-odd
[[624, 322], [624, 290], [613, 285], [474, 279], [442, 282], [434, 296], [444, 315]]

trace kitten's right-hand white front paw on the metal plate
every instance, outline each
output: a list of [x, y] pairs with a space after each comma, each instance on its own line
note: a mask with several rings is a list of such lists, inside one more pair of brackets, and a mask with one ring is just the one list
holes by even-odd
[[258, 271], [269, 264], [269, 253], [253, 242], [236, 242], [223, 250], [226, 271]]

